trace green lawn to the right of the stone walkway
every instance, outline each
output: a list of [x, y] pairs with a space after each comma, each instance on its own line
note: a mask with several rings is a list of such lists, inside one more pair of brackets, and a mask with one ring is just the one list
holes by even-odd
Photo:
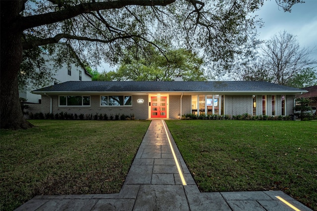
[[166, 123], [201, 191], [281, 190], [317, 210], [317, 122]]

